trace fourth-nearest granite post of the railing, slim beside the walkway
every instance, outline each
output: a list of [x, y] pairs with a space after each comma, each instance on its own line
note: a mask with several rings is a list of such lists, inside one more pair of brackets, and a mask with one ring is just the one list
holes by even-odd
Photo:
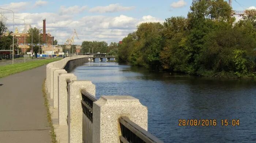
[[58, 83], [58, 76], [60, 73], [67, 73], [65, 69], [56, 69], [53, 72], [53, 108], [58, 108], [58, 89], [59, 89], [59, 83]]

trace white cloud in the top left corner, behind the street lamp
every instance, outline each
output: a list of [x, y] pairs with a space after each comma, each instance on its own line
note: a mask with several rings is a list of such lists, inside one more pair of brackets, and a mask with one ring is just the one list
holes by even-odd
[[[10, 9], [14, 12], [20, 12], [22, 10], [27, 9], [27, 7], [30, 5], [29, 2], [19, 2], [19, 3], [10, 3], [10, 4], [4, 4], [0, 5], [1, 8]], [[1, 13], [11, 13], [11, 11], [1, 10]]]

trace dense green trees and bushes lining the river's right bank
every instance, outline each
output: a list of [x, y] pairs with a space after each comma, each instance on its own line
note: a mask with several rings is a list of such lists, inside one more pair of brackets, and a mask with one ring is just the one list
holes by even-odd
[[256, 10], [236, 21], [224, 0], [195, 0], [187, 18], [142, 23], [118, 44], [117, 59], [147, 69], [256, 79]]

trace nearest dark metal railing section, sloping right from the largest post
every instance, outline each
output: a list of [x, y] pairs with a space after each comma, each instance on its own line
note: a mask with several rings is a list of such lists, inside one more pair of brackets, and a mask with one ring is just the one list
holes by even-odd
[[121, 143], [163, 143], [127, 117], [120, 117], [119, 122], [121, 127]]

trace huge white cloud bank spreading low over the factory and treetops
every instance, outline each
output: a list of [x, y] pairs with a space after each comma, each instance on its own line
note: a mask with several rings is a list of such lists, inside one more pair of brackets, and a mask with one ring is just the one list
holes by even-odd
[[[46, 32], [50, 32], [59, 43], [64, 43], [72, 34], [74, 29], [78, 33], [79, 39], [75, 39], [75, 44], [81, 44], [82, 41], [120, 41], [128, 33], [136, 30], [136, 26], [142, 22], [161, 22], [160, 19], [147, 15], [141, 18], [130, 17], [126, 15], [103, 16], [93, 15], [84, 16], [76, 19], [74, 13], [84, 11], [84, 7], [61, 7], [60, 12], [42, 12], [42, 13], [15, 13], [15, 17], [25, 19], [26, 23], [33, 27], [42, 29], [43, 19], [46, 19]], [[12, 17], [12, 13], [5, 13], [6, 17]], [[10, 31], [12, 29], [12, 21], [7, 20], [7, 26]], [[19, 32], [24, 29], [22, 20], [15, 20], [15, 28], [18, 27]]]

